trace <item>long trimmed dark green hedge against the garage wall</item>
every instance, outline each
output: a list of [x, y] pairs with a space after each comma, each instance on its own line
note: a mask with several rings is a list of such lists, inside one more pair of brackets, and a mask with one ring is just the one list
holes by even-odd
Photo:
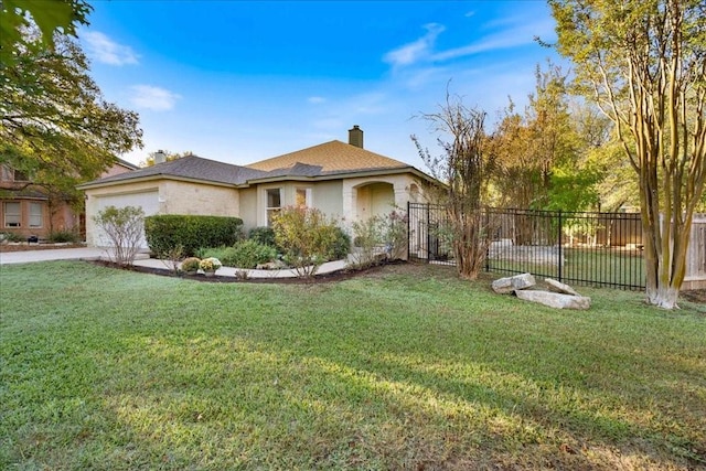
[[165, 214], [145, 218], [147, 243], [158, 257], [181, 245], [185, 256], [200, 247], [232, 246], [242, 238], [239, 217]]

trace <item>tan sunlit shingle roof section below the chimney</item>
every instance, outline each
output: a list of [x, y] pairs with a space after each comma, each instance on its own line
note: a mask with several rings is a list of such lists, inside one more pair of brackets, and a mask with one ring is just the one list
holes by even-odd
[[271, 159], [261, 160], [259, 162], [250, 163], [247, 167], [267, 172], [275, 170], [281, 171], [284, 169], [290, 169], [291, 171], [303, 170], [300, 167], [298, 168], [297, 164], [320, 168], [318, 173], [320, 175], [378, 169], [402, 169], [409, 167], [398, 160], [341, 142], [339, 140], [274, 157]]

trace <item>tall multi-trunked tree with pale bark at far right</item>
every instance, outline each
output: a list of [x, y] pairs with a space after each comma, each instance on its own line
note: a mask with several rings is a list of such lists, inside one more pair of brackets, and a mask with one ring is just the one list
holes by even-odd
[[576, 86], [638, 175], [648, 302], [677, 304], [706, 179], [706, 3], [549, 0]]

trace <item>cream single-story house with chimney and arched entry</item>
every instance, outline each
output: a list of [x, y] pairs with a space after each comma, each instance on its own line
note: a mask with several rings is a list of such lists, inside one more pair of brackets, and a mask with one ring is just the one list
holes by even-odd
[[244, 167], [188, 156], [78, 189], [86, 193], [87, 242], [100, 246], [92, 216], [109, 205], [141, 206], [146, 215], [236, 216], [246, 231], [268, 226], [281, 207], [306, 205], [346, 226], [421, 201], [425, 184], [434, 182], [411, 165], [365, 150], [363, 130], [354, 126], [347, 143], [333, 140]]

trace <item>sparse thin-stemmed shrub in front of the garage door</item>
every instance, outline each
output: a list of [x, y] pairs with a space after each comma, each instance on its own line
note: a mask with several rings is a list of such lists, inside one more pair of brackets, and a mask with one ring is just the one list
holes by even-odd
[[113, 247], [115, 263], [132, 265], [135, 261], [140, 249], [143, 217], [145, 212], [140, 206], [107, 206], [94, 216], [93, 220], [108, 238], [106, 245]]

